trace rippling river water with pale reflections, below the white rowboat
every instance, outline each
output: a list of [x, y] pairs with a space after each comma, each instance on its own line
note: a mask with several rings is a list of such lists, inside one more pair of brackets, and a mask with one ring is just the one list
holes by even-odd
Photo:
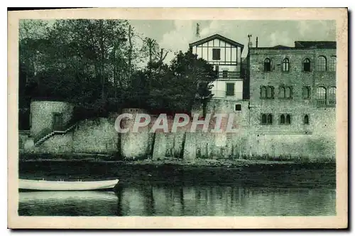
[[129, 186], [23, 192], [19, 215], [335, 215], [334, 189]]

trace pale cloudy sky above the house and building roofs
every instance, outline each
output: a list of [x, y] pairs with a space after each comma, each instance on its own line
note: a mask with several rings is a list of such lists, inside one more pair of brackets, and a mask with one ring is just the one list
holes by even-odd
[[294, 46], [295, 41], [336, 41], [335, 21], [190, 21], [190, 20], [132, 20], [131, 26], [140, 36], [155, 39], [160, 48], [170, 49], [165, 62], [174, 52], [186, 51], [189, 43], [198, 41], [196, 24], [200, 23], [200, 39], [215, 33], [244, 45], [246, 57], [248, 34], [259, 47]]

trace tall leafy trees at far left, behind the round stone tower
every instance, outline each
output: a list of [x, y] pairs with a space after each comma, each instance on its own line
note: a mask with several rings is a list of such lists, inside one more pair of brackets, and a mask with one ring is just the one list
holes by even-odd
[[136, 45], [128, 42], [128, 21], [56, 20], [48, 26], [24, 20], [20, 34], [19, 81], [29, 97], [67, 100], [88, 109], [119, 109], [117, 91], [129, 86], [138, 58]]

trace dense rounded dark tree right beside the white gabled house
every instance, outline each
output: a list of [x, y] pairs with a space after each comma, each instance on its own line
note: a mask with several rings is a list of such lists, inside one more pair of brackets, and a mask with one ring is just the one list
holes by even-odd
[[206, 60], [190, 51], [180, 52], [170, 66], [158, 60], [138, 73], [139, 86], [131, 87], [135, 94], [131, 101], [152, 112], [191, 112], [194, 104], [205, 104], [213, 96], [211, 82], [216, 76]]

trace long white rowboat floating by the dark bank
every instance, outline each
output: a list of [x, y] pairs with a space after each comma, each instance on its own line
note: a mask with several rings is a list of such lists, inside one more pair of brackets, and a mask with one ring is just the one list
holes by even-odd
[[118, 179], [111, 181], [35, 181], [19, 179], [18, 188], [33, 191], [87, 191], [114, 188]]

